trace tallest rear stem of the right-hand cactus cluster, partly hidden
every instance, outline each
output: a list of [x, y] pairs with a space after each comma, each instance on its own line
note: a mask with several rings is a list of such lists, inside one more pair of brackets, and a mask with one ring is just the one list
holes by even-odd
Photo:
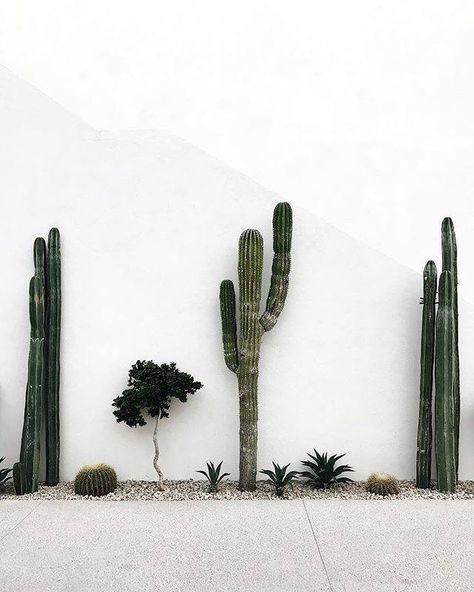
[[454, 314], [454, 455], [456, 460], [456, 481], [459, 469], [459, 421], [461, 411], [459, 383], [459, 329], [458, 329], [458, 264], [457, 245], [454, 225], [451, 218], [445, 218], [441, 224], [442, 271], [449, 271], [453, 282]]

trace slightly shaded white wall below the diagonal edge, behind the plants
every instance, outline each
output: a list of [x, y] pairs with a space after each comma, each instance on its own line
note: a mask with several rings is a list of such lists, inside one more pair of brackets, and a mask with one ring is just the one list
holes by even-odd
[[[96, 132], [5, 70], [0, 126], [1, 454], [13, 462], [19, 450], [32, 243], [54, 225], [63, 478], [94, 461], [122, 479], [154, 478], [151, 426], [117, 424], [111, 409], [138, 358], [176, 361], [205, 385], [162, 423], [166, 476], [196, 477], [206, 460], [223, 459], [236, 477], [237, 391], [221, 351], [218, 287], [236, 279], [247, 227], [264, 235], [268, 287], [271, 215], [282, 197], [176, 137]], [[287, 305], [262, 347], [259, 465], [296, 467], [316, 446], [347, 452], [356, 477], [411, 478], [421, 276], [305, 209], [295, 207], [294, 224]], [[474, 311], [463, 301], [460, 312], [461, 477], [473, 478]]]

